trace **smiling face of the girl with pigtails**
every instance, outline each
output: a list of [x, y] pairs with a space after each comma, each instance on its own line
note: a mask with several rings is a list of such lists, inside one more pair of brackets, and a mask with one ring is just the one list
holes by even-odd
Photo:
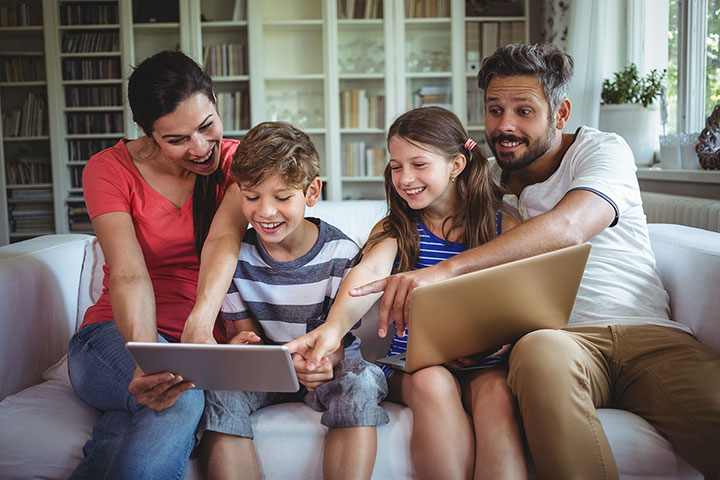
[[413, 210], [429, 208], [449, 215], [455, 206], [450, 181], [465, 167], [465, 157], [447, 160], [434, 149], [395, 135], [388, 141], [393, 187]]

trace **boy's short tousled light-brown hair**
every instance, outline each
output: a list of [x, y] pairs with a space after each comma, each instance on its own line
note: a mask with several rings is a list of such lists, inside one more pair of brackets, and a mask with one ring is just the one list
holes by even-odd
[[280, 174], [289, 186], [307, 193], [320, 174], [320, 156], [302, 130], [286, 122], [263, 122], [240, 141], [230, 173], [238, 185], [251, 187]]

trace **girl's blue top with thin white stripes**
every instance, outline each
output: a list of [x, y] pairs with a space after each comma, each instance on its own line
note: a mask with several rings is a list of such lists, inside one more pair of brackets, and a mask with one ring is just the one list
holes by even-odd
[[[495, 214], [495, 222], [497, 225], [496, 234], [500, 235], [502, 233], [501, 211], [498, 211]], [[417, 263], [413, 267], [413, 270], [419, 270], [425, 267], [432, 267], [436, 263], [447, 260], [448, 258], [452, 258], [458, 253], [462, 253], [465, 251], [464, 244], [448, 242], [446, 240], [443, 240], [442, 238], [433, 235], [433, 233], [428, 230], [422, 220], [418, 223], [417, 229], [418, 235], [420, 237], [420, 255], [418, 257]], [[392, 339], [392, 343], [390, 344], [388, 356], [399, 355], [407, 351], [407, 336], [407, 327], [405, 328], [405, 336], [400, 337], [397, 333], [395, 333], [395, 336]], [[380, 365], [380, 368], [382, 369], [383, 373], [385, 373], [385, 377], [387, 378], [389, 378], [392, 372], [395, 370], [394, 368], [387, 365]]]

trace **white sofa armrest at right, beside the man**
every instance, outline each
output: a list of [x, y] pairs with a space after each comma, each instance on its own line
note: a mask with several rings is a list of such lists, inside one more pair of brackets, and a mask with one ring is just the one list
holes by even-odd
[[720, 352], [720, 233], [676, 224], [648, 224], [673, 320]]

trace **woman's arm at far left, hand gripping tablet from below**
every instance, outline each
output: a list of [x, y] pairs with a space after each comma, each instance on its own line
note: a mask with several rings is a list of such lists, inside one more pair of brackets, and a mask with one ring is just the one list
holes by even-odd
[[[104, 213], [92, 224], [110, 270], [110, 305], [120, 334], [125, 341], [156, 342], [155, 292], [130, 215]], [[138, 403], [153, 410], [170, 407], [190, 388], [169, 372], [144, 375], [139, 367], [128, 386]]]

